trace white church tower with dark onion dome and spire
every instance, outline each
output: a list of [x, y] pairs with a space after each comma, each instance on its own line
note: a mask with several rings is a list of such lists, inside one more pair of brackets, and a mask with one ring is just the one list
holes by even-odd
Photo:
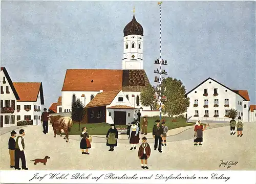
[[122, 70], [143, 70], [143, 28], [135, 15], [123, 29], [123, 34]]

